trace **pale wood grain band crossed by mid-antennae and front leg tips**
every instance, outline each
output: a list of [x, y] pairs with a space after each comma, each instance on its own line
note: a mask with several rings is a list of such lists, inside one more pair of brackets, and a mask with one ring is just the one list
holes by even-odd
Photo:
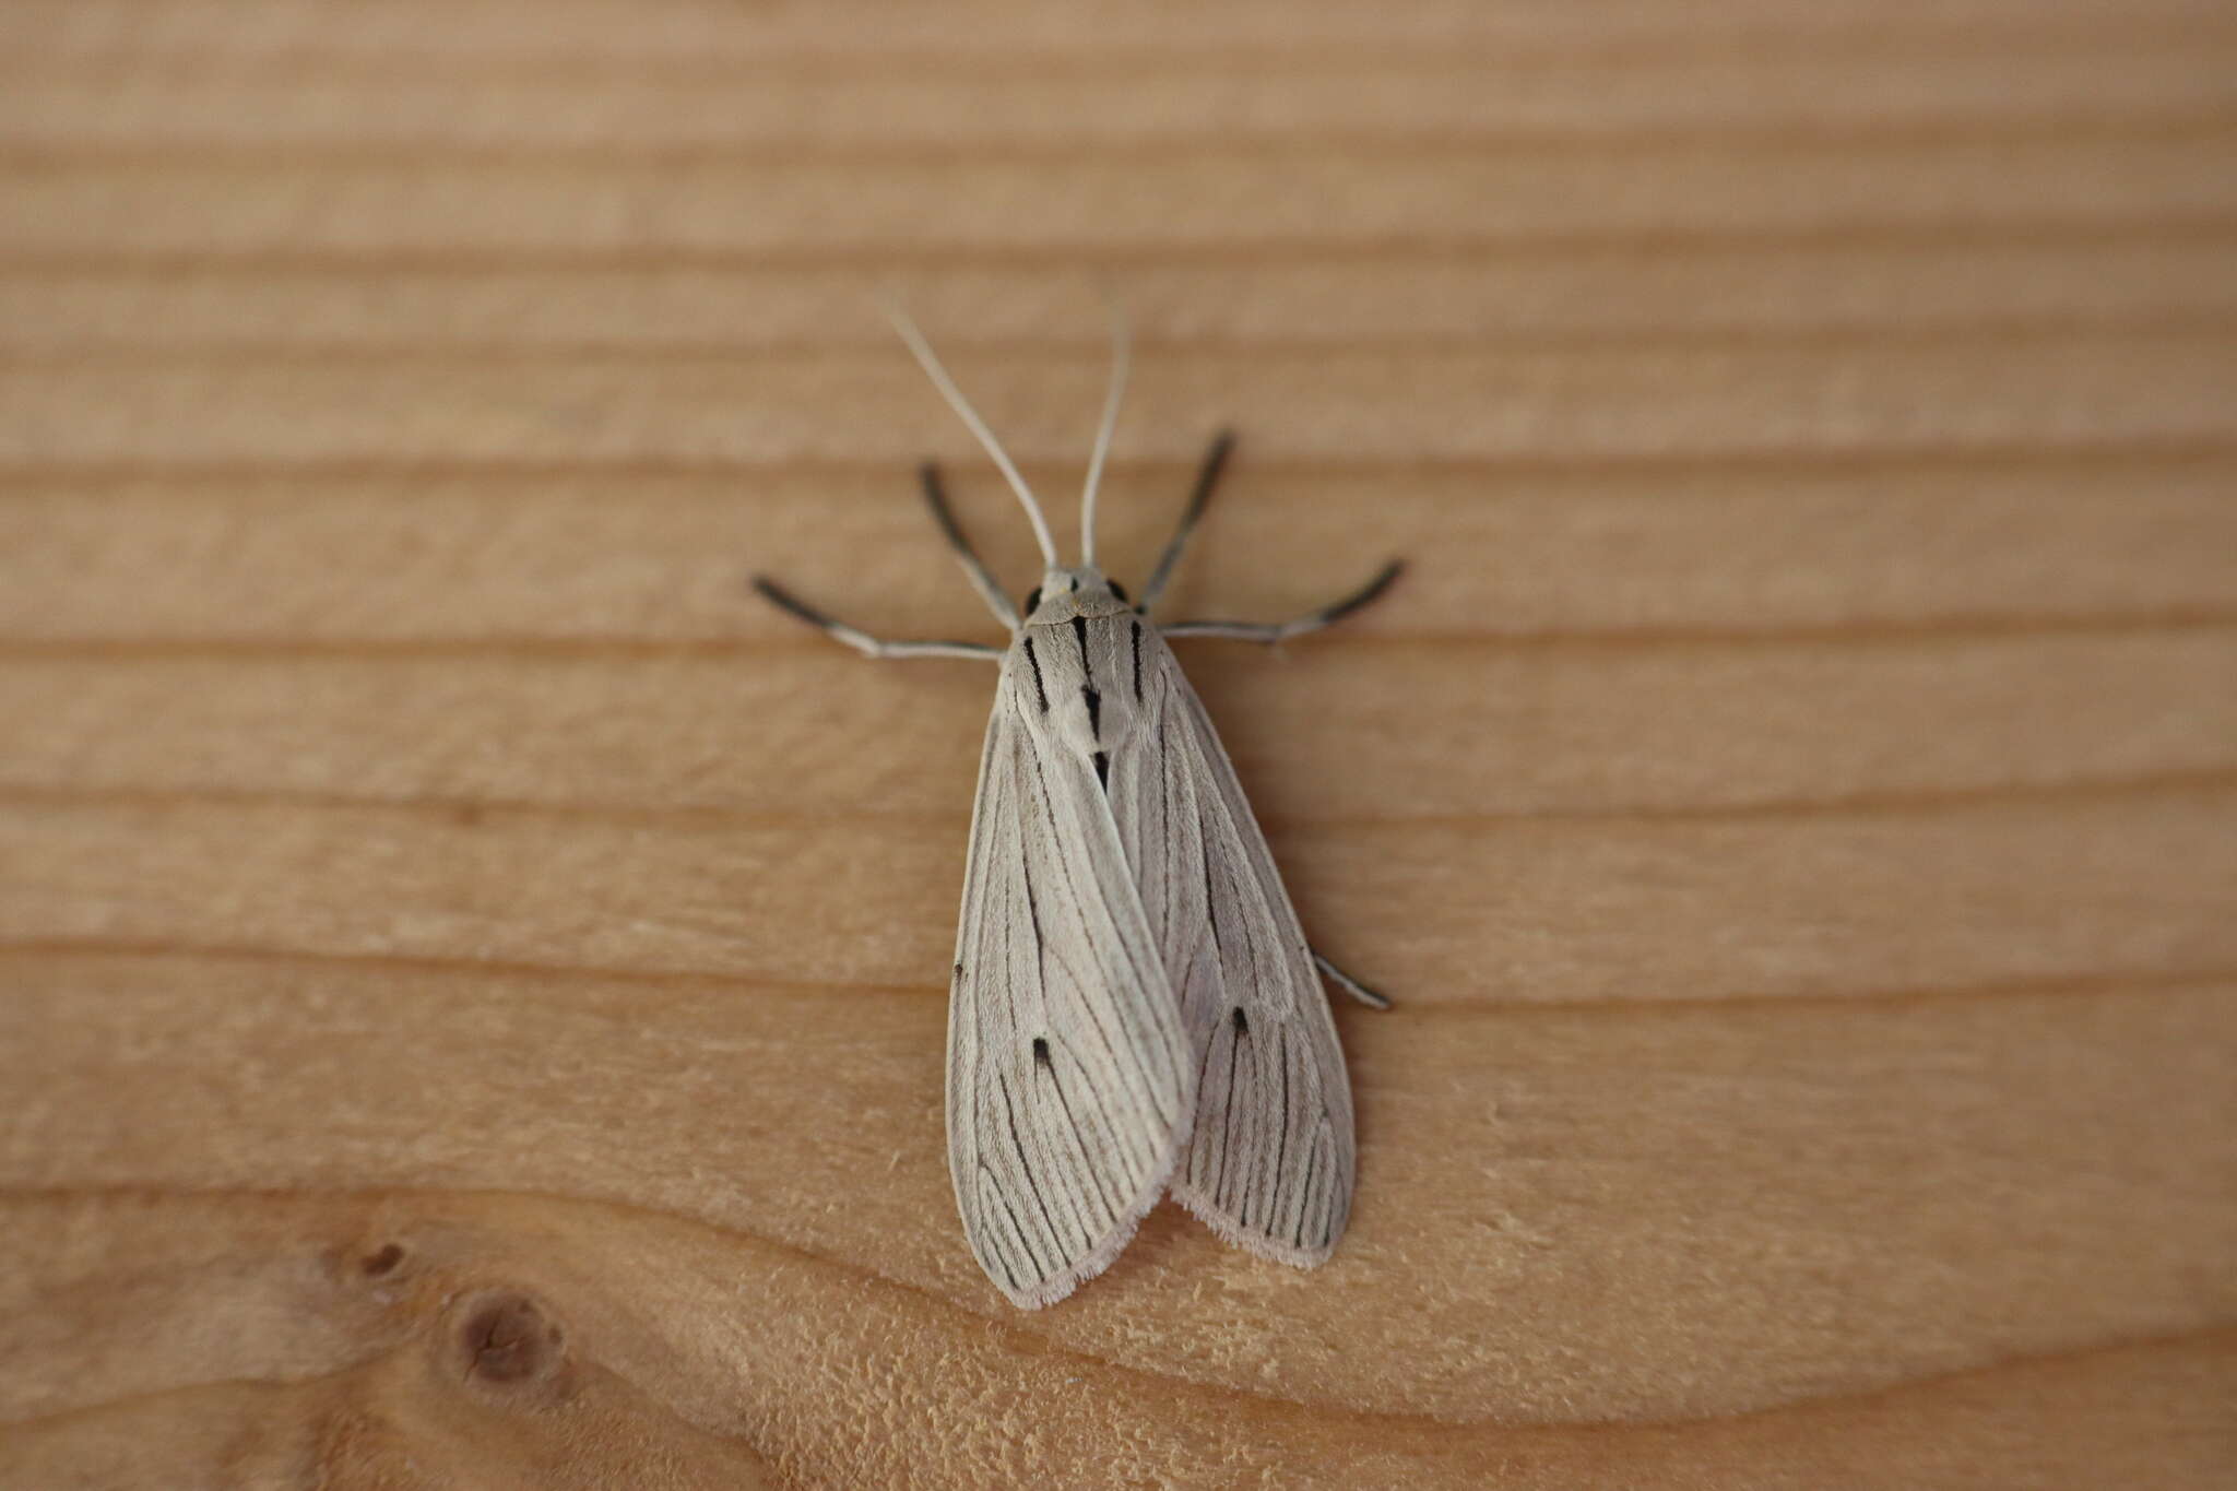
[[[1076, 458], [1074, 409], [1094, 409], [1089, 358], [951, 360], [1007, 445]], [[2130, 367], [2150, 364], [2152, 380]], [[1787, 454], [1796, 447], [2004, 449], [2105, 440], [2219, 443], [2237, 355], [2215, 331], [2076, 333], [2009, 349], [1499, 349], [1374, 353], [1190, 351], [1136, 378], [1127, 440], [1197, 454], [1206, 411], [1291, 454]], [[0, 369], [0, 449], [13, 460], [841, 456], [915, 463], [969, 447], [922, 376], [893, 355], [738, 358], [727, 364], [441, 358], [242, 367], [213, 382], [157, 360], [54, 373]], [[1456, 420], [1423, 391], [1465, 400]], [[1582, 398], [1582, 389], [1593, 389]], [[1040, 418], [1027, 422], [1022, 411]], [[65, 418], [65, 411], [69, 418]], [[282, 414], [284, 411], [284, 414]], [[564, 416], [555, 414], [564, 411]], [[1181, 434], [1186, 431], [1186, 434]]]

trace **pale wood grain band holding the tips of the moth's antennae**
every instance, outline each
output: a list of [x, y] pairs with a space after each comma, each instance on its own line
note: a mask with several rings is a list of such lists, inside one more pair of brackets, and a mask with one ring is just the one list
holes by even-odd
[[[1398, 253], [1257, 270], [1136, 268], [1123, 295], [1141, 344], [1763, 335], [2226, 315], [2237, 230], [2197, 241], [2085, 239], [1879, 253], [1604, 250], [1454, 262]], [[859, 346], [890, 349], [850, 270], [181, 273], [123, 266], [0, 277], [13, 349], [170, 346]], [[893, 275], [942, 344], [1078, 342], [1098, 311], [1072, 270]]]

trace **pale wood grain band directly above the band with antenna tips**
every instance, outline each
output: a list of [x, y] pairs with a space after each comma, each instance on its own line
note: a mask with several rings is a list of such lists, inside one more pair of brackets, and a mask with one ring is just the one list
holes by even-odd
[[[1206, 152], [1141, 172], [1116, 161], [676, 165], [638, 170], [421, 161], [376, 168], [166, 165], [0, 177], [11, 255], [291, 248], [875, 250], [1145, 244], [1539, 239], [1629, 232], [1848, 235], [1886, 226], [2228, 217], [2228, 130], [2127, 141], [1599, 148], [1407, 159], [1315, 152], [1266, 170]], [[1745, 170], [1743, 170], [1745, 168]], [[244, 190], [255, 186], [255, 190]], [[1342, 215], [1327, 210], [1344, 201]], [[1242, 226], [1242, 228], [1239, 228]]]

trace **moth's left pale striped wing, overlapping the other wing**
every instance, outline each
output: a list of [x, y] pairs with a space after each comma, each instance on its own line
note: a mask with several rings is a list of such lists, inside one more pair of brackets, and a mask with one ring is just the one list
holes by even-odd
[[1020, 1308], [1094, 1279], [1188, 1138], [1179, 1001], [1087, 762], [1045, 751], [1004, 671], [948, 1001], [948, 1171], [964, 1236]]

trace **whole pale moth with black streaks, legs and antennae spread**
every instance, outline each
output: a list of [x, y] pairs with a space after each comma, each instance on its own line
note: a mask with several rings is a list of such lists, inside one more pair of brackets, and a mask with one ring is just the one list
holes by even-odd
[[[1025, 503], [1047, 572], [1020, 615], [948, 510], [924, 498], [1011, 642], [881, 642], [756, 588], [870, 657], [1000, 662], [948, 1001], [948, 1171], [964, 1236], [1020, 1308], [1094, 1279], [1172, 1194], [1230, 1243], [1313, 1267], [1351, 1214], [1351, 1086], [1320, 977], [1389, 1001], [1315, 955], [1235, 769], [1165, 637], [1282, 642], [1369, 604], [1358, 592], [1280, 626], [1150, 610], [1230, 438], [1204, 460], [1141, 601], [1096, 568], [1096, 485], [1125, 391], [1114, 317], [1110, 396], [1080, 498], [1080, 563], [924, 335], [895, 326]], [[1318, 970], [1318, 972], [1315, 972]]]

